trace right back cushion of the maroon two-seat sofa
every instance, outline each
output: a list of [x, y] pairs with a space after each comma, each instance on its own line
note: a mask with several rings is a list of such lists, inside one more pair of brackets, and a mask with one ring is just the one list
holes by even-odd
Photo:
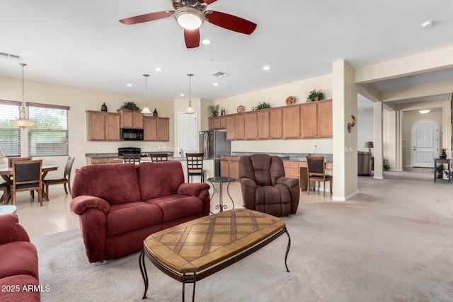
[[183, 166], [179, 161], [140, 163], [138, 175], [142, 200], [175, 194], [184, 182]]

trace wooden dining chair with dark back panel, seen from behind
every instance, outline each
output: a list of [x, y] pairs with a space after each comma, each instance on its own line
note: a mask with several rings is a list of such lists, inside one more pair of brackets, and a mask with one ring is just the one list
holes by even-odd
[[42, 159], [34, 161], [13, 161], [13, 184], [11, 204], [16, 204], [16, 192], [38, 192], [38, 202], [42, 207]]

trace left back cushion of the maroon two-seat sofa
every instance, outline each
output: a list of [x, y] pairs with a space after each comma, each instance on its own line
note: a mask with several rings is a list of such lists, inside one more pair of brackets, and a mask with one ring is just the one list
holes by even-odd
[[72, 198], [80, 195], [96, 196], [109, 204], [140, 200], [136, 165], [132, 163], [86, 165], [76, 169]]

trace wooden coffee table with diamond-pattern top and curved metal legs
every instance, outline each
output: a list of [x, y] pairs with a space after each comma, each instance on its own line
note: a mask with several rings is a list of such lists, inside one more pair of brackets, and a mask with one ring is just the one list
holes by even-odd
[[248, 209], [233, 209], [182, 223], [151, 234], [144, 240], [139, 266], [144, 281], [143, 298], [147, 298], [148, 275], [144, 256], [168, 276], [193, 284], [253, 254], [283, 233], [288, 236], [287, 257], [291, 238], [285, 221], [275, 216]]

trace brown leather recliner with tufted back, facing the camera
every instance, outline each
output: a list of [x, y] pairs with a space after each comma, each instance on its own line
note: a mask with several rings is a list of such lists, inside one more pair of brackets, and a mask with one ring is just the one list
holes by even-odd
[[285, 178], [282, 158], [268, 154], [241, 156], [239, 179], [246, 209], [273, 216], [296, 214], [299, 180]]

